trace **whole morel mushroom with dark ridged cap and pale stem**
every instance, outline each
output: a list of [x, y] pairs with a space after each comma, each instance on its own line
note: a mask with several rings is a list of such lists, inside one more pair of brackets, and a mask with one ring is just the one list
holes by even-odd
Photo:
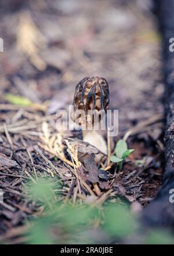
[[[74, 121], [78, 120], [78, 124], [81, 125], [84, 141], [96, 146], [104, 154], [107, 154], [106, 141], [100, 134], [100, 124], [97, 124], [99, 131], [95, 130], [95, 121], [101, 121], [108, 103], [109, 89], [104, 78], [85, 77], [77, 84], [73, 103]], [[97, 161], [99, 158], [101, 156], [97, 157]]]

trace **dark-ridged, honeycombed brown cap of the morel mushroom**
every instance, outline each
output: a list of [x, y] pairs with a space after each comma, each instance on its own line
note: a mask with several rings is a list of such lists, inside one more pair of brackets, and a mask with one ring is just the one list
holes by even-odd
[[74, 121], [79, 118], [80, 110], [85, 111], [85, 120], [81, 122], [93, 123], [90, 120], [88, 111], [92, 110], [93, 116], [97, 114], [101, 116], [102, 111], [106, 111], [109, 103], [109, 89], [106, 79], [103, 77], [85, 77], [78, 82], [74, 94]]

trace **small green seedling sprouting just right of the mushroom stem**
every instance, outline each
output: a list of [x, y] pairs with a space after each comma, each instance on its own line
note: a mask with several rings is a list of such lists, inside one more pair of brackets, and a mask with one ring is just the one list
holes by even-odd
[[118, 170], [122, 169], [122, 161], [129, 156], [134, 149], [128, 149], [128, 145], [123, 139], [119, 139], [115, 147], [115, 155], [111, 156], [111, 161], [118, 163]]

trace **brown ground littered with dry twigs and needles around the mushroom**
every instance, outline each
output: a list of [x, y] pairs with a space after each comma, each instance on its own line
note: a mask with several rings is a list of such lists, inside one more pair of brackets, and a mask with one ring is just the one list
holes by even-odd
[[[26, 180], [46, 174], [66, 179], [74, 175], [63, 158], [71, 161], [70, 156], [55, 160], [57, 152], [46, 141], [46, 129], [50, 137], [56, 134], [56, 111], [72, 104], [75, 85], [84, 77], [106, 78], [110, 109], [119, 110], [119, 133], [113, 145], [126, 135], [129, 148], [135, 149], [121, 172], [115, 174], [115, 167], [111, 168], [110, 181], [99, 185], [100, 192], [113, 188], [112, 193], [143, 207], [157, 193], [164, 164], [161, 38], [155, 15], [143, 2], [15, 0], [0, 4], [2, 240], [13, 238], [17, 227], [36, 211], [25, 197]], [[31, 106], [12, 104], [9, 93], [29, 99]], [[48, 127], [43, 130], [45, 122]], [[42, 148], [41, 154], [34, 145]], [[64, 183], [65, 188], [70, 186]]]

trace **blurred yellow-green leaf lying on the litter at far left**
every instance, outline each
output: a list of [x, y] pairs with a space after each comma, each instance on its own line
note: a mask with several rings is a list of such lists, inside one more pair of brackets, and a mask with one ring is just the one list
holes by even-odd
[[32, 102], [29, 99], [24, 98], [23, 96], [20, 96], [20, 95], [13, 95], [10, 93], [6, 93], [5, 99], [8, 100], [9, 103], [18, 105], [18, 106], [28, 107], [32, 105]]

